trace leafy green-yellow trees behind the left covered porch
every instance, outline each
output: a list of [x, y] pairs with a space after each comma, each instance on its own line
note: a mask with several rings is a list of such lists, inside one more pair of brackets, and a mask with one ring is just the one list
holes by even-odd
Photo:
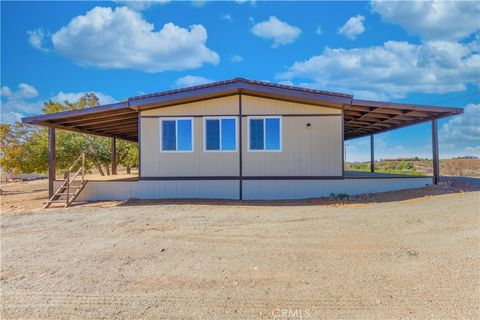
[[[94, 107], [99, 104], [94, 93], [85, 93], [76, 102], [58, 103], [46, 101], [43, 113], [55, 113]], [[6, 171], [16, 173], [44, 173], [48, 170], [48, 135], [46, 128], [16, 123], [2, 124], [0, 129], [0, 164]], [[119, 163], [130, 171], [138, 166], [137, 147], [129, 142], [118, 140]], [[88, 171], [97, 169], [101, 175], [110, 174], [110, 138], [57, 131], [56, 154], [57, 170], [64, 172], [82, 153], [86, 154]]]

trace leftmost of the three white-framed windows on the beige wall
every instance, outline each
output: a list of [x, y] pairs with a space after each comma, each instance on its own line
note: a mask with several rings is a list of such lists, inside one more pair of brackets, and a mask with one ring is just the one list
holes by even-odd
[[193, 151], [192, 119], [162, 119], [162, 145], [164, 152], [191, 152]]

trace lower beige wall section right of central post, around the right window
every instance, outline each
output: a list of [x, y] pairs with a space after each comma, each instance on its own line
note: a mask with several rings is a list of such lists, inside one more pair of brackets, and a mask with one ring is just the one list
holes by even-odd
[[247, 121], [245, 117], [244, 176], [342, 175], [341, 116], [282, 117], [281, 152], [249, 152]]

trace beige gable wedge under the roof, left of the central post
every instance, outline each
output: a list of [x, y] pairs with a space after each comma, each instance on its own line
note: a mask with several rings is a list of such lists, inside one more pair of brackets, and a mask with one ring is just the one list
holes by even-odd
[[179, 104], [170, 107], [161, 107], [141, 112], [142, 116], [207, 116], [236, 114], [238, 114], [238, 95]]

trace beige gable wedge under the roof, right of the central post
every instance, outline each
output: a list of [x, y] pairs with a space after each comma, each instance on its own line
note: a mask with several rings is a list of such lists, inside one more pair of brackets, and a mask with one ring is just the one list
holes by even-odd
[[242, 95], [242, 113], [244, 115], [342, 114], [342, 109], [340, 105], [338, 108], [332, 108]]

